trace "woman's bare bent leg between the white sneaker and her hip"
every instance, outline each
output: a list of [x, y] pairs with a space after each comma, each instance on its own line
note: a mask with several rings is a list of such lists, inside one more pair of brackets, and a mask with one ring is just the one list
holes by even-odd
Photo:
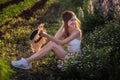
[[26, 58], [28, 62], [32, 62], [33, 60], [37, 60], [43, 56], [45, 56], [47, 53], [49, 53], [51, 50], [54, 51], [54, 53], [57, 55], [59, 59], [63, 59], [64, 56], [67, 54], [67, 52], [60, 46], [57, 45], [54, 42], [49, 42], [47, 45], [45, 45], [40, 51], [36, 52], [29, 58]]

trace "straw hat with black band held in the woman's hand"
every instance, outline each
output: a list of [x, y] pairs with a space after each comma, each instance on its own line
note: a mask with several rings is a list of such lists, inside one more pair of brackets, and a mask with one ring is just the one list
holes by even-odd
[[33, 52], [38, 52], [41, 47], [46, 43], [46, 38], [41, 37], [39, 34], [41, 32], [46, 32], [44, 24], [40, 24], [36, 30], [34, 30], [30, 36], [30, 46]]

